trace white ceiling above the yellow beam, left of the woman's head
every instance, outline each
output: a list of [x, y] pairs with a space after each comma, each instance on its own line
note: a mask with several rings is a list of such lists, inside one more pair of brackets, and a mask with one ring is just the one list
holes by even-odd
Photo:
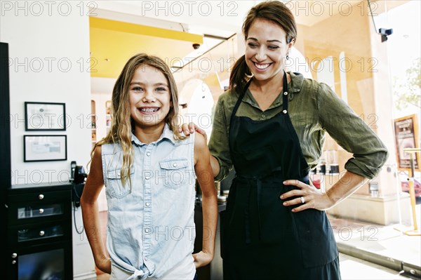
[[258, 2], [95, 1], [99, 16], [122, 13], [132, 23], [225, 38], [241, 30], [247, 11]]

